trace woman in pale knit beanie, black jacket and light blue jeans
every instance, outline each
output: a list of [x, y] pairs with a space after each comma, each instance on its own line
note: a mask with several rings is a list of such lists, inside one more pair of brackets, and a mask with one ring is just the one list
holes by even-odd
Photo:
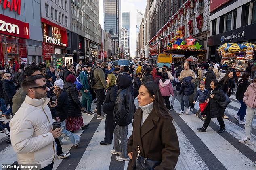
[[54, 94], [57, 97], [58, 104], [55, 107], [55, 109], [58, 112], [58, 117], [61, 122], [61, 136], [59, 137], [59, 140], [61, 141], [62, 138], [66, 139], [67, 141], [70, 141], [73, 143], [75, 148], [77, 148], [78, 143], [80, 141], [80, 136], [75, 135], [71, 133], [70, 131], [66, 130], [66, 119], [67, 119], [67, 113], [69, 110], [69, 99], [67, 97], [67, 92], [63, 88], [64, 82], [63, 80], [59, 79], [54, 82]]

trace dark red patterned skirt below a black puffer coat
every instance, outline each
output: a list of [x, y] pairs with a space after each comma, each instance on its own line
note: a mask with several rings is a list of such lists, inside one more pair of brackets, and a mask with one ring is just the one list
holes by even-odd
[[69, 131], [78, 131], [80, 127], [84, 126], [84, 120], [82, 116], [67, 117], [66, 129]]

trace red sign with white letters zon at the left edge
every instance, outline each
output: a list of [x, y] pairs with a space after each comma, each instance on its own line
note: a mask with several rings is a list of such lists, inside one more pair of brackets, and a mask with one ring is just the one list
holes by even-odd
[[0, 33], [29, 39], [29, 23], [0, 14]]

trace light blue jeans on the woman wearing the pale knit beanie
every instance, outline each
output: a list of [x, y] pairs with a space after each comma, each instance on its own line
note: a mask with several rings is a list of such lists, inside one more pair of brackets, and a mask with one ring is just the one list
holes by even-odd
[[80, 136], [75, 135], [74, 133], [71, 133], [70, 131], [66, 130], [66, 120], [61, 122], [61, 136], [58, 137], [58, 139], [61, 141], [63, 138], [66, 139], [67, 141], [70, 141], [73, 143], [73, 145], [76, 145], [80, 141]]

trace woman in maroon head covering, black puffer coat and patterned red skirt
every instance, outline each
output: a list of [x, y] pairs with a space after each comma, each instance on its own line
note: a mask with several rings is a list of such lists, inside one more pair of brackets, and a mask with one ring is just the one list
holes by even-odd
[[71, 131], [77, 131], [82, 127], [82, 130], [89, 126], [89, 124], [84, 125], [84, 120], [82, 118], [82, 107], [81, 102], [78, 98], [78, 90], [76, 89], [76, 85], [74, 82], [76, 81], [76, 77], [73, 74], [69, 74], [66, 78], [66, 82], [64, 84], [64, 88], [67, 91], [67, 96], [69, 99], [69, 109], [67, 113], [66, 119], [66, 129]]

